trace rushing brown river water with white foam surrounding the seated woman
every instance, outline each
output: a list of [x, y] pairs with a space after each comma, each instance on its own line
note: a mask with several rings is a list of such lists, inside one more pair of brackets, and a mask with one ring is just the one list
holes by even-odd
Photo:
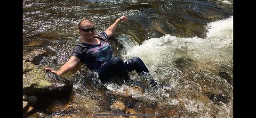
[[[23, 55], [47, 50], [52, 55], [41, 65], [59, 69], [79, 42], [79, 20], [93, 20], [100, 32], [121, 15], [129, 21], [110, 42], [115, 55], [141, 57], [165, 86], [140, 93], [111, 83], [101, 90], [83, 66], [68, 78], [74, 81], [70, 99], [54, 100], [32, 117], [145, 114], [149, 108], [162, 114], [157, 117], [233, 117], [233, 1], [23, 1]], [[131, 78], [141, 80], [135, 73]], [[125, 110], [111, 108], [115, 101]]]

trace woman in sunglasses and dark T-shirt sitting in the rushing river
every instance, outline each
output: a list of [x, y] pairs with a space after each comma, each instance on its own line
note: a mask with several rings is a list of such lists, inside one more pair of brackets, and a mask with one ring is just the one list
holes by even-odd
[[[121, 58], [113, 56], [109, 37], [113, 35], [119, 22], [127, 20], [126, 16], [121, 16], [107, 30], [97, 34], [95, 34], [94, 23], [91, 20], [81, 20], [78, 24], [78, 30], [82, 36], [81, 43], [75, 47], [69, 61], [58, 71], [49, 68], [43, 69], [63, 75], [74, 69], [81, 61], [91, 71], [97, 71], [101, 81], [106, 81], [113, 76], [130, 80], [128, 71], [133, 70], [137, 73], [148, 73], [146, 65], [139, 57], [133, 57], [123, 62]], [[154, 80], [151, 80], [150, 83], [156, 84]]]

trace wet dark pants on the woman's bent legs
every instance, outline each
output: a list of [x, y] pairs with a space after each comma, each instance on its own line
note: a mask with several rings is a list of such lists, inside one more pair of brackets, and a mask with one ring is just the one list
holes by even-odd
[[124, 80], [130, 80], [128, 71], [137, 73], [149, 72], [146, 65], [139, 57], [132, 57], [129, 60], [122, 61], [119, 57], [114, 57], [98, 70], [99, 79], [106, 80], [113, 76], [121, 77]]

